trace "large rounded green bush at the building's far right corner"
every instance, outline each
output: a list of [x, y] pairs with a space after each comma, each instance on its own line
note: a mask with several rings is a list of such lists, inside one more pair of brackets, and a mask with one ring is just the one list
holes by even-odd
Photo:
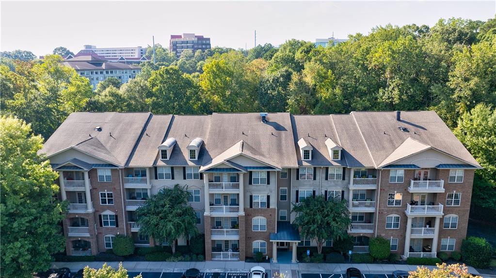
[[482, 237], [469, 236], [462, 241], [462, 259], [475, 268], [487, 268], [491, 262], [493, 248]]

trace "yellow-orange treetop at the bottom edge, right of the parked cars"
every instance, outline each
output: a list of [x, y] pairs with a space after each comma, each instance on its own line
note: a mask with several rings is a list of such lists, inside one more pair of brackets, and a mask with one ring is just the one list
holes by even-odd
[[427, 267], [417, 267], [416, 271], [411, 271], [409, 278], [482, 278], [473, 276], [468, 272], [465, 265], [442, 265], [437, 264], [437, 268], [430, 270]]

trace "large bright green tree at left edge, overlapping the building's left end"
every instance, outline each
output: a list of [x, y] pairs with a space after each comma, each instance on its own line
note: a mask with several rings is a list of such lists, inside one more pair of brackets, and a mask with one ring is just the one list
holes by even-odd
[[64, 250], [60, 222], [66, 204], [53, 198], [58, 178], [37, 152], [43, 138], [12, 116], [0, 117], [0, 260], [2, 277], [33, 277]]

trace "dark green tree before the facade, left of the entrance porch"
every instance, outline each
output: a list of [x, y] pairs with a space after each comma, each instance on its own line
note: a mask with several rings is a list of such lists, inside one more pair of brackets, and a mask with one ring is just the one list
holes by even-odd
[[153, 195], [145, 204], [136, 211], [139, 232], [152, 237], [156, 242], [169, 242], [172, 254], [176, 253], [176, 241], [181, 236], [195, 236], [196, 215], [191, 206], [187, 204], [190, 193], [186, 186], [179, 184], [173, 188], [164, 188]]

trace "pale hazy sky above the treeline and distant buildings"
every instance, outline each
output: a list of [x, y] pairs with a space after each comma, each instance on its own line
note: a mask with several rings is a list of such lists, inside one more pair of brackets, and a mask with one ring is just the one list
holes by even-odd
[[41, 56], [59, 46], [74, 53], [83, 45], [169, 46], [170, 35], [196, 33], [212, 46], [278, 46], [289, 39], [347, 38], [375, 26], [439, 18], [487, 20], [488, 1], [1, 1], [1, 51], [29, 50]]

